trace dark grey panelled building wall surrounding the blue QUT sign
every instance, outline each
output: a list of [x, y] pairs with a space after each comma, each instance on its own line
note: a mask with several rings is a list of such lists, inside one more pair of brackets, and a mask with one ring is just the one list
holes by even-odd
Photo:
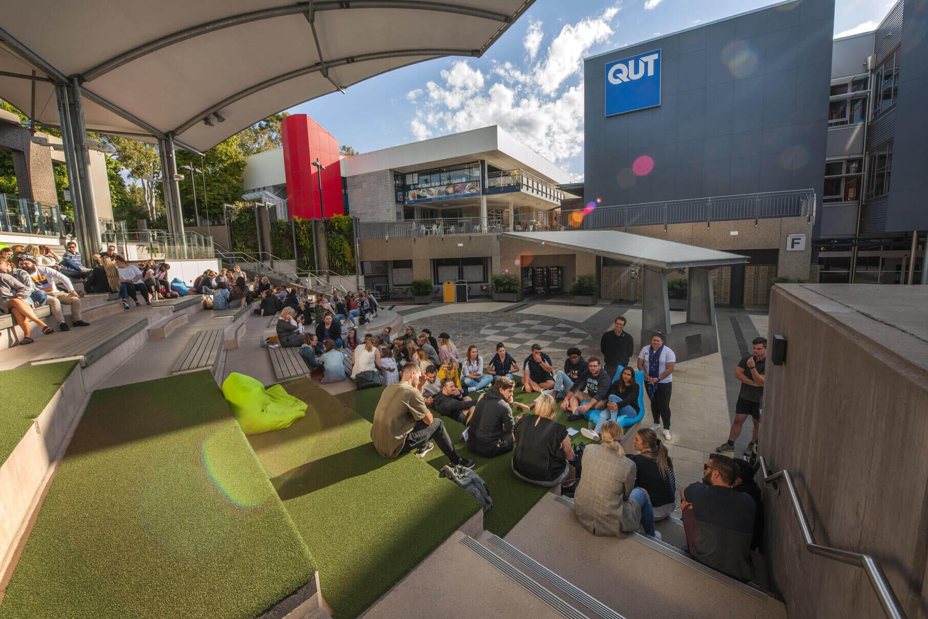
[[[834, 0], [798, 0], [585, 61], [587, 197], [603, 206], [824, 186]], [[605, 64], [660, 48], [662, 101], [604, 116]], [[641, 155], [654, 161], [637, 176]]]

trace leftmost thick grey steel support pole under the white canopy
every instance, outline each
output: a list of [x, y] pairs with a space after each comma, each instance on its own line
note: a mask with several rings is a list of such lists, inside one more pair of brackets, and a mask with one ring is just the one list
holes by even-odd
[[71, 205], [74, 209], [74, 229], [81, 249], [84, 266], [93, 267], [93, 254], [100, 246], [100, 222], [90, 175], [90, 154], [84, 145], [84, 106], [81, 89], [75, 79], [71, 84], [56, 84], [58, 118], [61, 123], [61, 141], [71, 186]]

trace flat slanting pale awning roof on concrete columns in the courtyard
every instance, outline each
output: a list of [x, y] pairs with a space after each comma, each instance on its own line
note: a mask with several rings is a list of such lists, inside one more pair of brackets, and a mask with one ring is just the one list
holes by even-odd
[[690, 266], [724, 266], [745, 264], [747, 256], [728, 251], [710, 250], [672, 240], [651, 239], [616, 230], [564, 230], [561, 232], [504, 232], [509, 239], [528, 240], [586, 251], [628, 264], [644, 264], [665, 270]]

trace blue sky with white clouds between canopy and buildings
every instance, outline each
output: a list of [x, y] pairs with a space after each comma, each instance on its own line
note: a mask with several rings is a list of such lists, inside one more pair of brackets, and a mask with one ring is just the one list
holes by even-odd
[[[359, 152], [499, 124], [583, 175], [583, 58], [771, 4], [763, 0], [536, 0], [483, 58], [391, 71], [290, 109]], [[837, 0], [835, 36], [876, 27], [894, 3]]]

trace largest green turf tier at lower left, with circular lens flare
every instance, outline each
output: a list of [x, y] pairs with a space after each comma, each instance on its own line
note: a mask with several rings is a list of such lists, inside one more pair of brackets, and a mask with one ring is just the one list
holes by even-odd
[[200, 371], [93, 394], [0, 618], [253, 619], [315, 572]]

